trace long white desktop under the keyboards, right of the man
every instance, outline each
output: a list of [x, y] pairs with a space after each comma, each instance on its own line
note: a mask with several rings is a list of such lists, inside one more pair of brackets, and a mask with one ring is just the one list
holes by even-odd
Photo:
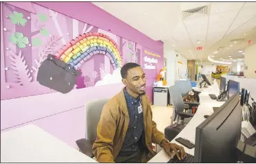
[[[224, 102], [217, 102], [216, 100], [209, 97], [209, 94], [217, 95], [219, 93], [217, 83], [201, 91], [202, 93], [200, 93], [200, 106], [198, 106], [197, 112], [191, 121], [189, 121], [189, 124], [185, 126], [185, 128], [171, 141], [171, 143], [181, 145], [175, 141], [175, 139], [178, 137], [188, 139], [189, 141], [195, 143], [195, 128], [205, 120], [204, 115], [211, 115], [213, 113], [213, 107], [222, 106], [222, 104], [224, 104]], [[189, 149], [184, 147], [184, 150], [186, 153], [194, 155], [194, 148]], [[170, 159], [171, 157], [168, 156], [164, 150], [161, 150], [158, 152], [158, 154], [156, 154], [156, 156], [153, 157], [153, 159], [149, 161], [149, 163], [167, 163]]]

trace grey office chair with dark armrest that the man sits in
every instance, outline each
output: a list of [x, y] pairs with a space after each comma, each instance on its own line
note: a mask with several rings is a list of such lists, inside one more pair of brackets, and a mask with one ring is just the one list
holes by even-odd
[[83, 154], [94, 157], [92, 145], [97, 137], [97, 126], [103, 106], [110, 98], [94, 99], [85, 103], [85, 139], [78, 139], [76, 145]]

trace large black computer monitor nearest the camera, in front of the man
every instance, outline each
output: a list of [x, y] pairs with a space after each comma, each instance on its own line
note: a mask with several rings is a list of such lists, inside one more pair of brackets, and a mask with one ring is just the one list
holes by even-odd
[[242, 129], [239, 94], [233, 95], [195, 130], [194, 163], [235, 163]]

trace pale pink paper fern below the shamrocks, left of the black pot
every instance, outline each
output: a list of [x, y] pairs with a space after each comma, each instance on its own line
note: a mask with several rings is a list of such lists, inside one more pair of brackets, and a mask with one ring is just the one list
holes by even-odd
[[11, 60], [11, 68], [14, 70], [14, 78], [15, 81], [19, 84], [28, 84], [32, 81], [32, 77], [30, 77], [30, 70], [28, 69], [28, 65], [25, 65], [24, 56], [22, 56], [21, 50], [19, 54], [15, 54], [13, 51], [8, 51]]

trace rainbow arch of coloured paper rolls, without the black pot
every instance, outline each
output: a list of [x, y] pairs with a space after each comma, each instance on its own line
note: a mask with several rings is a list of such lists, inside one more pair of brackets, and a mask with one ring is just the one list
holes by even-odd
[[100, 33], [84, 33], [65, 45], [54, 56], [63, 60], [74, 69], [78, 69], [94, 54], [103, 54], [109, 57], [114, 69], [122, 67], [122, 58], [118, 45]]

